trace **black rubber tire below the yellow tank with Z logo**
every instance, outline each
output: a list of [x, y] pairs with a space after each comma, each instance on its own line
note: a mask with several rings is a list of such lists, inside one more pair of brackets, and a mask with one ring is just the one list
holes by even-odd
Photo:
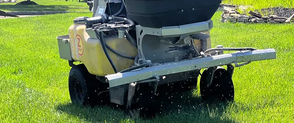
[[71, 68], [68, 77], [68, 89], [71, 102], [83, 106], [94, 107], [98, 103], [107, 101], [106, 95], [98, 93], [107, 90], [108, 85], [90, 74], [84, 64]]

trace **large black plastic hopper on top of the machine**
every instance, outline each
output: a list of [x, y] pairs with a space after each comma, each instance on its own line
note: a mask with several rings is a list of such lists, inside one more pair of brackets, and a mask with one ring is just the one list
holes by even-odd
[[207, 21], [222, 0], [125, 0], [131, 18], [144, 27], [161, 28]]

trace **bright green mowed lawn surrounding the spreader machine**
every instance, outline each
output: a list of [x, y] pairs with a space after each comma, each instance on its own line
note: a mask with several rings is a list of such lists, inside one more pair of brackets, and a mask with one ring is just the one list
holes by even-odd
[[74, 18], [91, 13], [3, 19], [0, 122], [294, 122], [293, 25], [222, 23], [220, 14], [213, 17], [213, 47], [274, 48], [277, 59], [236, 68], [234, 102], [205, 103], [198, 84], [194, 95], [171, 95], [174, 100], [149, 120], [130, 119], [116, 106], [91, 109], [71, 104], [70, 67], [59, 58], [56, 37], [68, 34]]

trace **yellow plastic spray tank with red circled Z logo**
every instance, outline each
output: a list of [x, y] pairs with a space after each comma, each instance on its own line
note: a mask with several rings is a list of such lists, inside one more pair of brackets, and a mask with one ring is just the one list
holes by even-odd
[[[100, 40], [91, 38], [85, 31], [86, 26], [83, 21], [84, 18], [85, 17], [76, 18], [74, 24], [71, 25], [68, 30], [72, 59], [82, 62], [87, 67], [89, 73], [93, 75], [105, 76], [106, 74], [114, 74], [115, 71], [103, 52]], [[121, 54], [134, 57], [137, 55], [137, 48], [126, 38], [112, 36], [105, 37], [104, 41], [113, 50]], [[109, 49], [107, 49], [107, 51], [117, 71], [128, 69], [134, 65], [133, 59], [123, 58], [111, 52]]]

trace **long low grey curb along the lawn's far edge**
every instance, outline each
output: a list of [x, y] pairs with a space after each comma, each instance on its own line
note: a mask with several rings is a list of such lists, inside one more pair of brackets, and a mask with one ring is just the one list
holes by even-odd
[[15, 15], [45, 15], [45, 14], [62, 14], [70, 12], [90, 12], [90, 11], [29, 11], [29, 12], [7, 12]]

